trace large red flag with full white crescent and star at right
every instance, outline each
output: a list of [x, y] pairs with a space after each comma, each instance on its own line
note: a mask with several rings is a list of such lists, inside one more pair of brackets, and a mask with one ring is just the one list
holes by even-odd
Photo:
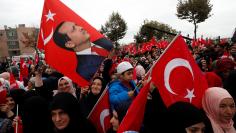
[[182, 36], [177, 36], [163, 52], [151, 77], [167, 107], [185, 101], [201, 108], [207, 81]]

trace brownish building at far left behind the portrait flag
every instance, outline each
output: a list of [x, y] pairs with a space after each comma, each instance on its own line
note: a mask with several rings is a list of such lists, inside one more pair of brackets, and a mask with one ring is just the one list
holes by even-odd
[[38, 29], [19, 24], [16, 28], [0, 29], [0, 60], [19, 55], [33, 55]]

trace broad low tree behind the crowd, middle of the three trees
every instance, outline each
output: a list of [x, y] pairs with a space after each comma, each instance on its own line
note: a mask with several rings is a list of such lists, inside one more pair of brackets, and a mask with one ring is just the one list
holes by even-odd
[[155, 27], [157, 29], [160, 29], [162, 31], [170, 32], [170, 33], [177, 33], [175, 29], [172, 29], [169, 25], [163, 24], [157, 21], [148, 21], [145, 20], [144, 24], [140, 27], [139, 32], [137, 35], [134, 36], [134, 39], [136, 40], [136, 43], [142, 43], [142, 42], [147, 42], [149, 41], [153, 36], [159, 40], [162, 38], [165, 39], [172, 39], [173, 36], [168, 35], [164, 32], [160, 32], [157, 30], [154, 30], [153, 28], [150, 27]]

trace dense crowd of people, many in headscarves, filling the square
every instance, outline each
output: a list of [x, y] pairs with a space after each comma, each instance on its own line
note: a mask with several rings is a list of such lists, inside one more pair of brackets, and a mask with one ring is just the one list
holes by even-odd
[[[208, 82], [202, 109], [187, 102], [167, 107], [158, 88], [151, 84], [140, 132], [236, 133], [235, 38], [232, 41], [231, 44], [189, 46]], [[23, 133], [96, 133], [98, 131], [87, 117], [107, 86], [112, 125], [107, 132], [117, 132], [139, 94], [139, 85], [145, 84], [145, 74], [161, 51], [157, 47], [137, 55], [120, 51], [117, 56], [106, 58], [89, 86], [83, 87], [43, 60], [42, 65], [27, 65], [29, 73], [23, 81], [19, 81], [17, 64], [1, 62], [0, 85], [7, 93], [6, 97], [0, 96], [0, 133], [13, 133], [16, 124], [21, 125]], [[18, 88], [10, 84], [11, 73]]]

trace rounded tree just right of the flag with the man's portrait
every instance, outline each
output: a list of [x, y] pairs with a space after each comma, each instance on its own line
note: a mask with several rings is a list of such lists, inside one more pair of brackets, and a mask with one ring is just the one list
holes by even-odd
[[118, 48], [120, 46], [118, 40], [124, 38], [127, 31], [127, 24], [118, 12], [113, 12], [109, 20], [105, 23], [105, 26], [101, 26], [100, 31], [115, 43], [115, 48]]

